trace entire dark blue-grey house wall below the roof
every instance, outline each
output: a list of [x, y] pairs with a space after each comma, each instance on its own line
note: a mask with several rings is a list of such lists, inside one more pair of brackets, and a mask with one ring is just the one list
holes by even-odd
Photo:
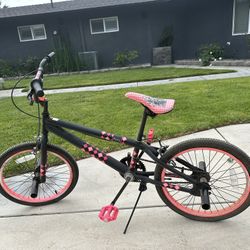
[[[91, 35], [89, 19], [109, 16], [118, 16], [119, 32]], [[173, 0], [5, 18], [0, 20], [0, 58], [42, 57], [54, 50], [58, 36], [64, 36], [75, 52], [98, 51], [100, 67], [112, 66], [115, 53], [123, 50], [138, 50], [136, 63], [148, 63], [167, 25], [174, 30], [174, 59], [196, 58], [197, 49], [212, 42], [225, 47], [228, 57], [247, 58], [246, 37], [232, 36], [232, 16], [233, 0]], [[17, 26], [32, 24], [44, 24], [47, 39], [20, 42]]]

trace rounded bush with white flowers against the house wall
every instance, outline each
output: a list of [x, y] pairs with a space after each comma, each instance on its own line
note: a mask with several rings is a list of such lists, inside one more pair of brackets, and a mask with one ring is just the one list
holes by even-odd
[[204, 44], [198, 50], [203, 66], [210, 65], [212, 61], [221, 60], [223, 55], [224, 49], [218, 43]]

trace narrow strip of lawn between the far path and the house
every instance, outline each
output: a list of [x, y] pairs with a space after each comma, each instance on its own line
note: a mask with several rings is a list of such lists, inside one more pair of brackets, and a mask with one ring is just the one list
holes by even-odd
[[[45, 89], [60, 89], [72, 87], [86, 87], [97, 85], [108, 85], [118, 83], [129, 83], [137, 81], [161, 80], [177, 77], [209, 75], [234, 72], [232, 70], [214, 70], [214, 69], [190, 69], [190, 68], [143, 68], [128, 69], [119, 71], [108, 71], [98, 73], [86, 73], [64, 76], [47, 76], [44, 81]], [[5, 89], [10, 89], [16, 80], [7, 80], [4, 83]], [[28, 88], [30, 79], [21, 82], [19, 87]]]

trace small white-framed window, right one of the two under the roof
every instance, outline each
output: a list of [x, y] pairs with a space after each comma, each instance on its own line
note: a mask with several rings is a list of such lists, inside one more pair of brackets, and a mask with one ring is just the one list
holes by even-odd
[[91, 34], [119, 31], [118, 17], [90, 19]]

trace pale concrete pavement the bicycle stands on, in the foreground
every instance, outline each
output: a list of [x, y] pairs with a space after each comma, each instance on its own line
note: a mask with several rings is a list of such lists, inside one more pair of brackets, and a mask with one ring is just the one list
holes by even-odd
[[[225, 139], [250, 155], [250, 124], [211, 129], [168, 140], [174, 145], [190, 138]], [[131, 149], [111, 153], [118, 159]], [[250, 210], [217, 223], [188, 220], [166, 207], [148, 185], [127, 235], [122, 232], [138, 195], [131, 183], [117, 202], [117, 221], [98, 218], [123, 184], [103, 163], [88, 158], [78, 162], [80, 178], [64, 200], [46, 207], [25, 207], [0, 196], [0, 249], [249, 249]]]

